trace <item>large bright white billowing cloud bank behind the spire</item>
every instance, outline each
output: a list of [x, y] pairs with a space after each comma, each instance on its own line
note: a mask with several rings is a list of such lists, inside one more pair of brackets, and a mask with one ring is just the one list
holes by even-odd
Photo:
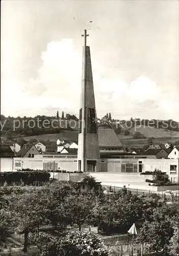
[[[95, 102], [99, 117], [111, 112], [114, 118], [166, 118], [173, 116], [177, 104], [169, 103], [149, 77], [136, 77], [127, 84], [120, 73], [110, 74], [92, 58]], [[81, 93], [81, 52], [75, 50], [72, 39], [49, 42], [41, 53], [42, 66], [36, 78], [28, 82], [7, 80], [3, 85], [3, 113], [55, 115], [57, 110], [79, 113]], [[13, 102], [10, 105], [9, 102]], [[7, 114], [8, 113], [8, 114]], [[20, 114], [19, 114], [20, 115]], [[175, 115], [176, 116], [176, 115]], [[171, 117], [172, 118], [172, 117]]]

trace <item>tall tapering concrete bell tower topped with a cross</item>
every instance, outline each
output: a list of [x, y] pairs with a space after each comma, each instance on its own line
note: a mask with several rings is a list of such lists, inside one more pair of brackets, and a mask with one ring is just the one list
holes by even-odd
[[90, 48], [84, 31], [82, 89], [80, 100], [78, 170], [99, 172], [100, 154], [96, 125], [96, 110], [91, 69]]

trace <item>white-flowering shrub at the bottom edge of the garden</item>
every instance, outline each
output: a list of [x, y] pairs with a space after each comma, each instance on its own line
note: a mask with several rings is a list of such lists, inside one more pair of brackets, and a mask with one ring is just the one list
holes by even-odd
[[37, 239], [37, 246], [43, 256], [110, 255], [108, 247], [104, 245], [99, 236], [90, 232], [71, 232], [62, 239], [40, 232], [39, 238]]

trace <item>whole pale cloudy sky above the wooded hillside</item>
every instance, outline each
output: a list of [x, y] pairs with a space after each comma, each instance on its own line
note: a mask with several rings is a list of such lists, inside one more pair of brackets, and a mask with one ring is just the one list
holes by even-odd
[[1, 8], [1, 114], [78, 115], [87, 29], [97, 116], [179, 121], [177, 0], [7, 0]]

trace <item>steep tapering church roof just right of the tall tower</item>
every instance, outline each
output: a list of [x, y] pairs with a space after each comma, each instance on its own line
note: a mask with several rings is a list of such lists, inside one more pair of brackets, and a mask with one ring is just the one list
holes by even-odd
[[115, 133], [111, 123], [107, 120], [101, 121], [97, 127], [99, 147], [124, 147]]

